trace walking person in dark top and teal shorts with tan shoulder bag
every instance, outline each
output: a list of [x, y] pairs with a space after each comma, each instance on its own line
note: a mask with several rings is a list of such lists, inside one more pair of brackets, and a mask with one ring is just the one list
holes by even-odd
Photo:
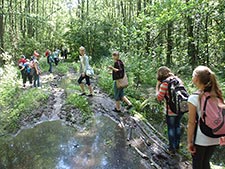
[[124, 64], [120, 60], [120, 54], [118, 51], [113, 52], [112, 58], [114, 60], [114, 66], [108, 66], [110, 70], [112, 70], [112, 78], [114, 80], [114, 98], [116, 100], [116, 107], [113, 111], [117, 113], [121, 113], [121, 105], [120, 101], [124, 101], [128, 107], [127, 110], [131, 110], [132, 103], [128, 100], [128, 98], [124, 94], [124, 88], [118, 88], [116, 81], [123, 78], [125, 75]]

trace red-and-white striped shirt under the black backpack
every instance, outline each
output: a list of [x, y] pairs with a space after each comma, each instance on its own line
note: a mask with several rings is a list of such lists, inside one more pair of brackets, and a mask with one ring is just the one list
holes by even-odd
[[[170, 79], [171, 77], [167, 78], [166, 80]], [[164, 98], [169, 98], [169, 91], [168, 91], [168, 83], [163, 82], [159, 87], [159, 92], [157, 93], [157, 100], [162, 101]], [[170, 109], [169, 105], [166, 103], [166, 113], [169, 116], [177, 116], [172, 110]]]

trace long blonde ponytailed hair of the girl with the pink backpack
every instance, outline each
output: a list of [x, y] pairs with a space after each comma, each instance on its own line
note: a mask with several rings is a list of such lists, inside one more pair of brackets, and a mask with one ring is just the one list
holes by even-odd
[[203, 92], [209, 92], [211, 96], [218, 97], [223, 101], [222, 90], [219, 87], [215, 73], [207, 66], [198, 66], [193, 72], [201, 84], [204, 85]]

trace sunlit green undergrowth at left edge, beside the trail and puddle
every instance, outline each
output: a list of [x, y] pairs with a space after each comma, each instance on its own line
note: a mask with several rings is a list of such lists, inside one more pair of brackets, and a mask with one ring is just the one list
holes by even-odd
[[17, 76], [17, 67], [5, 65], [0, 77], [0, 133], [15, 132], [20, 120], [48, 98], [42, 90], [20, 89]]

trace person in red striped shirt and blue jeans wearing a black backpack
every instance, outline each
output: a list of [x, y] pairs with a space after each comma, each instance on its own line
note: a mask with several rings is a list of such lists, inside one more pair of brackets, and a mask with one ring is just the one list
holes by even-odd
[[169, 100], [171, 99], [169, 96], [169, 81], [173, 79], [178, 81], [179, 84], [182, 84], [182, 81], [177, 76], [175, 76], [168, 67], [162, 66], [158, 69], [156, 96], [158, 101], [163, 101], [164, 99], [166, 100], [166, 122], [169, 139], [168, 150], [171, 155], [174, 155], [180, 148], [180, 121], [182, 117], [180, 114], [173, 112], [169, 105]]

